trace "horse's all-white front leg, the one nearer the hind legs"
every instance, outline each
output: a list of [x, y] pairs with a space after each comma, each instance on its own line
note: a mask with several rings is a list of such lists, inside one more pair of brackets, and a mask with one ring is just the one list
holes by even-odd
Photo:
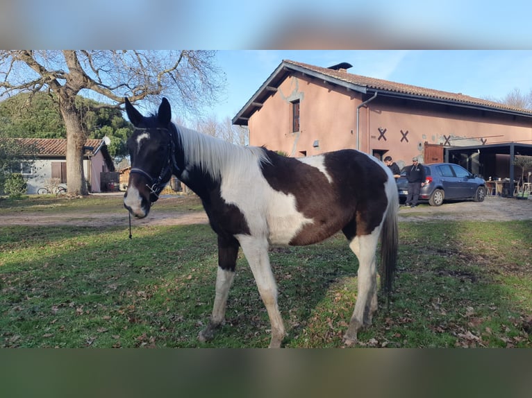
[[269, 264], [267, 239], [256, 238], [249, 235], [238, 236], [244, 255], [249, 263], [251, 272], [258, 287], [260, 298], [269, 316], [272, 328], [272, 339], [269, 348], [280, 348], [285, 337], [283, 318], [277, 305], [277, 285], [275, 283], [272, 267]]

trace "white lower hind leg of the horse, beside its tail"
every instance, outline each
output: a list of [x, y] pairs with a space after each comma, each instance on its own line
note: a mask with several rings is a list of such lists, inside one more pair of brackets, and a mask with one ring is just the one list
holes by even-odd
[[355, 309], [344, 336], [345, 343], [351, 345], [357, 341], [357, 332], [364, 326], [372, 324], [372, 317], [377, 309], [377, 281], [375, 251], [379, 241], [379, 228], [369, 235], [356, 236], [349, 248], [358, 257], [358, 295]]

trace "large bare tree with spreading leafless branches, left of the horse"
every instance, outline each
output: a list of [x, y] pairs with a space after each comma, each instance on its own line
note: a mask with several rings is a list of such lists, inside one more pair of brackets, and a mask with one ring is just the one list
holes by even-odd
[[[127, 96], [160, 101], [167, 95], [183, 112], [199, 112], [214, 103], [224, 78], [213, 51], [0, 51], [0, 98], [19, 92], [49, 91], [58, 103], [67, 130], [67, 186], [85, 194], [83, 131], [74, 99], [90, 90], [120, 107]], [[110, 101], [109, 101], [110, 100]]]

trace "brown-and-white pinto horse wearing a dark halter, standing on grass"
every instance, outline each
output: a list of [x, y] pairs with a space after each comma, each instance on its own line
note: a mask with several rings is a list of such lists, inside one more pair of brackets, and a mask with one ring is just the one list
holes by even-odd
[[228, 292], [242, 248], [271, 323], [269, 347], [285, 337], [270, 266], [270, 245], [310, 245], [340, 230], [358, 258], [358, 297], [345, 345], [372, 324], [377, 310], [376, 250], [381, 240], [381, 291], [388, 299], [397, 264], [399, 200], [392, 173], [379, 159], [344, 149], [312, 157], [285, 157], [265, 147], [238, 146], [178, 127], [163, 98], [142, 116], [124, 98], [135, 130], [128, 138], [131, 171], [124, 207], [144, 218], [172, 175], [201, 198], [217, 234], [213, 312], [201, 330], [211, 340], [225, 318]]

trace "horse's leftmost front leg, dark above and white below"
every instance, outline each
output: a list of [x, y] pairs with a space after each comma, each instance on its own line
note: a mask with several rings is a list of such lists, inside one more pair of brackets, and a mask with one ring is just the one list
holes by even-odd
[[218, 270], [216, 274], [215, 302], [213, 314], [208, 325], [199, 332], [201, 342], [212, 340], [215, 330], [222, 325], [225, 319], [227, 297], [229, 288], [235, 278], [236, 259], [238, 257], [238, 241], [236, 239], [223, 239], [218, 236]]

